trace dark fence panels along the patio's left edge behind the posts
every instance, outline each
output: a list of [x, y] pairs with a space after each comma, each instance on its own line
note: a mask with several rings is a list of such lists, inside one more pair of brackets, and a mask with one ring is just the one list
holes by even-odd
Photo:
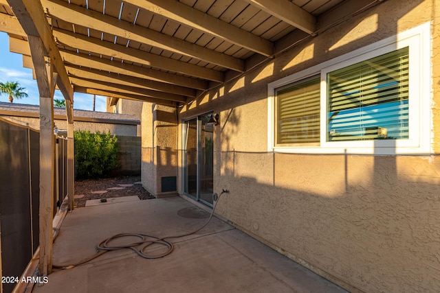
[[[0, 118], [0, 277], [21, 277], [39, 246], [40, 133]], [[67, 139], [57, 137], [54, 211], [67, 196]], [[0, 283], [4, 293], [14, 282]]]

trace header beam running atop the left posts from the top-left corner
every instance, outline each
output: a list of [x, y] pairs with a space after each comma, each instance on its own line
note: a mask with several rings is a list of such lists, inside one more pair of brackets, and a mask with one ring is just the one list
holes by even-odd
[[[45, 51], [50, 54], [56, 72], [58, 73], [58, 87], [66, 100], [74, 102], [74, 89], [70, 84], [67, 71], [61, 59], [55, 40], [52, 36], [52, 30], [47, 23], [46, 16], [40, 1], [35, 0], [8, 0], [8, 3], [17, 19], [28, 36], [38, 36], [43, 41]], [[32, 51], [32, 50], [31, 50]], [[67, 115], [68, 119], [73, 117]], [[73, 122], [73, 121], [69, 121]]]

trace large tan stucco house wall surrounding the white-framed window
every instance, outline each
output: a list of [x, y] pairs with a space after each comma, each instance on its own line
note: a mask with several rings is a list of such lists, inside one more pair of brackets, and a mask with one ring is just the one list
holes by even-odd
[[230, 194], [222, 196], [219, 215], [349, 290], [439, 292], [436, 155], [267, 152], [267, 83], [432, 21], [432, 143], [438, 154], [439, 17], [435, 0], [384, 1], [181, 108], [179, 121], [220, 113], [214, 192]]

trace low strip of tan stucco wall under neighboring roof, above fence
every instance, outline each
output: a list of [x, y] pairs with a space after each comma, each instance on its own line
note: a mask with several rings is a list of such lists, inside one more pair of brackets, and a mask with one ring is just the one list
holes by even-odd
[[[8, 119], [17, 124], [25, 125], [28, 123], [30, 128], [34, 128], [36, 130], [40, 129], [40, 119], [39, 118], [29, 118], [29, 117], [11, 117], [11, 116], [2, 116], [4, 119]], [[67, 130], [67, 121], [66, 120], [58, 120], [54, 119], [54, 124], [58, 127], [59, 130]], [[136, 125], [127, 125], [127, 124], [109, 124], [109, 123], [96, 123], [96, 122], [87, 122], [87, 121], [74, 121], [74, 130], [89, 130], [91, 133], [101, 132], [116, 135], [126, 135], [130, 137], [137, 136], [137, 126]]]

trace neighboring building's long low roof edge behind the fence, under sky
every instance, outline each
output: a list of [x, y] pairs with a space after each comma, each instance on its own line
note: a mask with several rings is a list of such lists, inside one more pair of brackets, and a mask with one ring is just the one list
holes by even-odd
[[[0, 115], [15, 117], [39, 118], [40, 106], [0, 102]], [[65, 108], [54, 107], [54, 119], [66, 119]], [[89, 121], [113, 124], [140, 124], [135, 115], [98, 112], [89, 110], [74, 110], [74, 121]]]

